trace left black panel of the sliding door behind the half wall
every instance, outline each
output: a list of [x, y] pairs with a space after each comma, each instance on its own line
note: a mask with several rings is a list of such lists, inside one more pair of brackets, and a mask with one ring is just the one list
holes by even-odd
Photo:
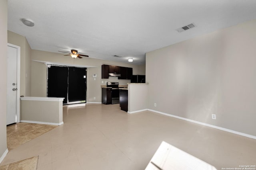
[[68, 67], [48, 67], [47, 97], [65, 98], [63, 104], [68, 103]]

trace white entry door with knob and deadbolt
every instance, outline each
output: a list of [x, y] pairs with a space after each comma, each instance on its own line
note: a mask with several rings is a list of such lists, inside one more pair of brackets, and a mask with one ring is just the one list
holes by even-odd
[[8, 46], [7, 53], [7, 115], [6, 125], [16, 123], [18, 49]]

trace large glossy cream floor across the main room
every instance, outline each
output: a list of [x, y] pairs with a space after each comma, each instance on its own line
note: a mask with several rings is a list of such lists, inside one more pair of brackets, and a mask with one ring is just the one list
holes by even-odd
[[255, 139], [151, 111], [64, 106], [63, 119], [64, 125], [10, 150], [0, 166], [39, 155], [38, 170], [143, 170], [162, 141], [218, 170], [256, 164]]

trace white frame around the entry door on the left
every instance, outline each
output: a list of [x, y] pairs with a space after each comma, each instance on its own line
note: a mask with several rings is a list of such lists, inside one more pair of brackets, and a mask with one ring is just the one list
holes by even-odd
[[[16, 123], [20, 123], [20, 47], [17, 45], [10, 44], [10, 43], [7, 43], [7, 46], [17, 49]], [[7, 84], [6, 84], [6, 86], [7, 86]]]

